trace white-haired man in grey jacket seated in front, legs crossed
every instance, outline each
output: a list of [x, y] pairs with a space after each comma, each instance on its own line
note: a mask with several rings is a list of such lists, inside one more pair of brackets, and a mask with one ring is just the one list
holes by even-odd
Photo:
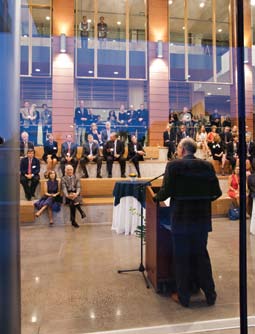
[[82, 197], [80, 196], [81, 184], [80, 180], [74, 175], [73, 166], [66, 165], [65, 176], [61, 178], [61, 188], [63, 192], [63, 202], [70, 207], [70, 220], [73, 227], [80, 227], [75, 221], [76, 209], [80, 212], [81, 218], [85, 218], [86, 214], [82, 210]]

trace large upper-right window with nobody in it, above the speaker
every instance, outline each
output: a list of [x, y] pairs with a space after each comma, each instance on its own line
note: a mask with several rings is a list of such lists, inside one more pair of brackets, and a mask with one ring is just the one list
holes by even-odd
[[232, 82], [231, 4], [169, 1], [170, 80]]

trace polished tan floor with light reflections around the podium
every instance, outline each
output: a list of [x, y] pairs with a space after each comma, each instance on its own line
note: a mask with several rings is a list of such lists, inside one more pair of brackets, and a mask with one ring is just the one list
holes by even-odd
[[[190, 308], [146, 289], [139, 272], [117, 273], [139, 264], [135, 236], [116, 235], [108, 224], [22, 226], [22, 334], [239, 333], [239, 225], [221, 218], [213, 226], [217, 303], [207, 307], [201, 294]], [[247, 242], [249, 334], [255, 334], [255, 236], [247, 233]]]

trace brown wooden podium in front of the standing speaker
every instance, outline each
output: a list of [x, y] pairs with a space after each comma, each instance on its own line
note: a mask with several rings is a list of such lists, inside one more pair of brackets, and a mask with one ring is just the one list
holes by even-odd
[[174, 285], [172, 239], [170, 208], [164, 203], [153, 201], [153, 196], [158, 190], [159, 187], [146, 188], [145, 269], [156, 292], [164, 292]]

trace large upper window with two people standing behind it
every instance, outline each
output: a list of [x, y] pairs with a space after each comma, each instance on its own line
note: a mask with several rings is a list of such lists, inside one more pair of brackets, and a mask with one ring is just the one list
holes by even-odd
[[145, 2], [76, 1], [76, 76], [146, 79]]

